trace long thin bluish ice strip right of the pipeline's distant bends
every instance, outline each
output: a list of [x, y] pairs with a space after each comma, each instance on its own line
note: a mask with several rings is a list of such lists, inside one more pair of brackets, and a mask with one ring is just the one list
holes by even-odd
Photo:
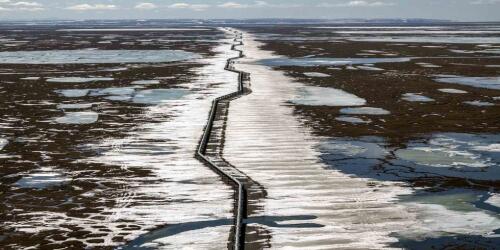
[[257, 63], [266, 66], [328, 66], [409, 62], [411, 58], [271, 58]]

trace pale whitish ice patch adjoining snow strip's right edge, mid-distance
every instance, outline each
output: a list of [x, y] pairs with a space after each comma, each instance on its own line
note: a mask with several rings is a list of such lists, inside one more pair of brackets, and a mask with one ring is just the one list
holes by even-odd
[[298, 96], [291, 100], [297, 105], [309, 106], [362, 106], [366, 100], [340, 89], [301, 87]]

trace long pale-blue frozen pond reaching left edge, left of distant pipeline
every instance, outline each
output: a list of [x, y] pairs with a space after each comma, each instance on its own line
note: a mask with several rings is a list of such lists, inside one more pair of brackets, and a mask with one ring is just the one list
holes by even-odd
[[47, 50], [0, 52], [0, 64], [162, 63], [199, 58], [181, 50]]

